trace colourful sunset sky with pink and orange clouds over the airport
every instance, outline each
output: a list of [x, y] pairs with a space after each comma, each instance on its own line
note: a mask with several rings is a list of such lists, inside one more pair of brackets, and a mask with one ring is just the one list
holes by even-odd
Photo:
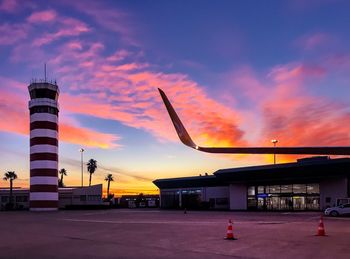
[[350, 145], [349, 10], [336, 0], [0, 0], [0, 172], [29, 185], [27, 86], [44, 63], [61, 90], [66, 185], [80, 185], [81, 147], [98, 161], [93, 183], [112, 173], [118, 195], [272, 163], [184, 146], [157, 88], [201, 146]]

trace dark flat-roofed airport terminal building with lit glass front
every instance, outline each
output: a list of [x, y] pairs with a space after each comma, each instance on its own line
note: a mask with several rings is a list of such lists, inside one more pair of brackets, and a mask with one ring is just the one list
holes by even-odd
[[350, 200], [350, 158], [304, 158], [153, 183], [160, 189], [161, 208], [324, 210]]

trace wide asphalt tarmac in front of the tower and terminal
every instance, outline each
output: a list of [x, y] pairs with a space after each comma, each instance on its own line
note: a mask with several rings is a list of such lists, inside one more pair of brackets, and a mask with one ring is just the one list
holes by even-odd
[[[350, 218], [320, 212], [0, 212], [0, 258], [350, 258]], [[225, 240], [232, 219], [237, 240]]]

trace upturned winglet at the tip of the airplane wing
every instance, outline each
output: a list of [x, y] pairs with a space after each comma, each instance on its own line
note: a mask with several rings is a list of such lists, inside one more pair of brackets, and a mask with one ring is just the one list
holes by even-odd
[[160, 96], [163, 99], [166, 109], [168, 110], [171, 121], [174, 124], [177, 135], [179, 136], [181, 142], [186, 146], [189, 146], [194, 149], [198, 149], [198, 146], [193, 142], [184, 125], [182, 124], [179, 116], [175, 112], [173, 106], [171, 105], [168, 97], [165, 95], [162, 89], [158, 88]]

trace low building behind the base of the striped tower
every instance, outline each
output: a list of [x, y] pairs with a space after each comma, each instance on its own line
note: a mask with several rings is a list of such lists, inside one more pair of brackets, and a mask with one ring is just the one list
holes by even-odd
[[[29, 189], [14, 188], [12, 195], [15, 209], [29, 209]], [[10, 189], [0, 189], [0, 210], [5, 209], [9, 198]], [[58, 188], [58, 207], [60, 209], [102, 204], [102, 184]]]

